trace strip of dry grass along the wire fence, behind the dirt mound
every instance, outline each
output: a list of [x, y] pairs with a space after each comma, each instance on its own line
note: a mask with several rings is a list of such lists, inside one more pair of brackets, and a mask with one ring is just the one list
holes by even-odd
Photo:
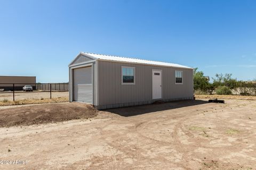
[[68, 97], [58, 97], [52, 99], [22, 99], [10, 101], [7, 99], [0, 100], [0, 106], [9, 106], [9, 105], [26, 105], [26, 104], [45, 104], [45, 103], [63, 103], [67, 102]]

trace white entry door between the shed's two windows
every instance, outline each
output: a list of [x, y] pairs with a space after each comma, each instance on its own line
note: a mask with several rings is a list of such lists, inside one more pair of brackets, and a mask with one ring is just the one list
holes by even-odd
[[162, 70], [152, 70], [152, 99], [162, 98]]

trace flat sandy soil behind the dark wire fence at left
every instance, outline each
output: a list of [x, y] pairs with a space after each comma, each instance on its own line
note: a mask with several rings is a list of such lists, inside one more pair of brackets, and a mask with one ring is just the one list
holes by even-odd
[[[58, 91], [58, 92], [52, 92], [52, 98], [57, 97], [68, 97], [69, 92], [68, 91]], [[21, 99], [48, 99], [50, 98], [50, 92], [28, 92], [28, 91], [19, 91], [15, 92], [15, 100], [21, 100]], [[7, 99], [7, 100], [13, 100], [13, 93], [12, 92], [0, 92], [0, 100]]]

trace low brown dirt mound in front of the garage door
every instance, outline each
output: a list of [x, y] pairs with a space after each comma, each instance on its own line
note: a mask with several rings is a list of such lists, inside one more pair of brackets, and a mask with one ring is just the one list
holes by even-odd
[[43, 104], [0, 110], [0, 127], [62, 122], [97, 115], [93, 106], [81, 103]]

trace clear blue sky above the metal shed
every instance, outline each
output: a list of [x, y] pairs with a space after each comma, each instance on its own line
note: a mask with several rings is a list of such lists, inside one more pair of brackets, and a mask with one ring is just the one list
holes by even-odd
[[0, 0], [0, 75], [67, 82], [81, 51], [256, 79], [256, 1]]

